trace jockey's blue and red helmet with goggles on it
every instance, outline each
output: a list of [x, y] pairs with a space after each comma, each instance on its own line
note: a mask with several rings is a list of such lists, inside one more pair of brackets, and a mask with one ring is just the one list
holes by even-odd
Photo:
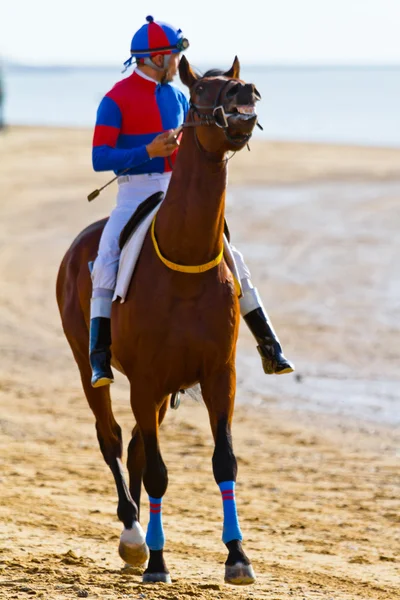
[[139, 60], [157, 54], [178, 54], [189, 48], [189, 41], [183, 37], [181, 29], [154, 21], [151, 16], [146, 17], [146, 21], [132, 38], [131, 58], [124, 63], [126, 68], [131, 65], [133, 57]]

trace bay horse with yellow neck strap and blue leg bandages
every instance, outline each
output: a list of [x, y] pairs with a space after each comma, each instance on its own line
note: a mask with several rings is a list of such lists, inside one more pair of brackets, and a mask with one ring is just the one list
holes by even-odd
[[[237, 57], [229, 71], [203, 77], [182, 57], [179, 73], [190, 90], [190, 109], [171, 182], [145, 239], [126, 301], [114, 302], [112, 309], [112, 364], [130, 382], [136, 419], [128, 447], [129, 486], [110, 386], [91, 386], [88, 354], [88, 262], [96, 256], [105, 219], [81, 232], [64, 256], [57, 301], [96, 419], [100, 449], [115, 479], [117, 514], [124, 524], [119, 545], [122, 559], [136, 566], [148, 559], [143, 581], [170, 581], [161, 522], [168, 475], [160, 452], [159, 427], [171, 394], [200, 383], [215, 442], [213, 473], [223, 500], [222, 539], [228, 549], [225, 581], [248, 584], [255, 576], [242, 548], [231, 436], [240, 313], [233, 277], [221, 250], [227, 152], [240, 150], [249, 141], [260, 96], [253, 84], [239, 78]], [[185, 272], [192, 265], [197, 272]], [[142, 479], [150, 500], [146, 537], [139, 524]]]

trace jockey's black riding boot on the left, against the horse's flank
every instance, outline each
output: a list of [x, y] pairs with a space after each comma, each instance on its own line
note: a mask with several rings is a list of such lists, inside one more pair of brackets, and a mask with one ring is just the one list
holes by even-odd
[[111, 371], [111, 319], [95, 317], [90, 319], [90, 366], [92, 386], [101, 387], [114, 382]]

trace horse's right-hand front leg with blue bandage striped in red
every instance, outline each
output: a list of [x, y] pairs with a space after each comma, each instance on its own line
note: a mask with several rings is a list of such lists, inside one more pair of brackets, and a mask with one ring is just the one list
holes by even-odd
[[215, 481], [222, 495], [224, 525], [222, 541], [228, 548], [225, 581], [235, 585], [254, 583], [253, 567], [242, 548], [242, 532], [236, 510], [235, 483], [237, 462], [233, 453], [231, 423], [236, 389], [235, 366], [208, 375], [201, 382], [215, 441], [212, 464]]

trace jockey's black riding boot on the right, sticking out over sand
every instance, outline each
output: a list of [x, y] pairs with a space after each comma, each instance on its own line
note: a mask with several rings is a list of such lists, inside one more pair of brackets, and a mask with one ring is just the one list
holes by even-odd
[[264, 373], [292, 373], [294, 365], [284, 356], [278, 337], [264, 310], [261, 307], [256, 308], [243, 318], [257, 340], [257, 350], [261, 356]]

